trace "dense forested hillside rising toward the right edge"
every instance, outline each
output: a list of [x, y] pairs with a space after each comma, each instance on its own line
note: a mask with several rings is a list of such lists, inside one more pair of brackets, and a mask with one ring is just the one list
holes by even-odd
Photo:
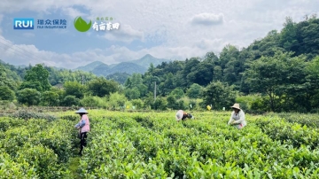
[[244, 95], [261, 94], [268, 111], [310, 111], [319, 105], [318, 55], [319, 19], [296, 23], [286, 18], [281, 32], [272, 30], [247, 48], [229, 44], [219, 57], [207, 52], [203, 58], [163, 62], [151, 66], [142, 79], [148, 91], [157, 82], [163, 97], [176, 88], [186, 93], [193, 84], [208, 88], [222, 82]]

